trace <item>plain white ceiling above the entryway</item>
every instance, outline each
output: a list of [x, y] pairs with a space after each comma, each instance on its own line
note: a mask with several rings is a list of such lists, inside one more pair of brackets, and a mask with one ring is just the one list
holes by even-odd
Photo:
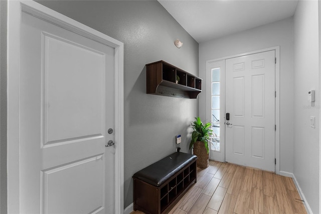
[[199, 43], [291, 17], [297, 5], [297, 0], [158, 2]]

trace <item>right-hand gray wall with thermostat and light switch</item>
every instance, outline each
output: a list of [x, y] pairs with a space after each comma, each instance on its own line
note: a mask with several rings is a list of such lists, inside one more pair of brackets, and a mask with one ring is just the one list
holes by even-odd
[[[313, 213], [319, 213], [318, 1], [299, 1], [294, 15], [294, 176]], [[307, 91], [315, 89], [315, 102]], [[310, 128], [315, 117], [315, 129]]]

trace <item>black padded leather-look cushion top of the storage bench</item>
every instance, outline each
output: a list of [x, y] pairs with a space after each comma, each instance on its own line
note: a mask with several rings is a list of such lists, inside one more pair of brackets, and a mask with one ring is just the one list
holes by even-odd
[[196, 159], [196, 155], [175, 152], [136, 172], [133, 177], [158, 187]]

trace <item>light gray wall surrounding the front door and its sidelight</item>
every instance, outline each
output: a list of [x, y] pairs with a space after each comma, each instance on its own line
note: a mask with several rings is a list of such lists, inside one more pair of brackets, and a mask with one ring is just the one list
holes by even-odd
[[[280, 171], [293, 173], [293, 19], [288, 18], [230, 36], [200, 43], [200, 77], [206, 61], [280, 46]], [[200, 117], [206, 118], [206, 86], [200, 98]]]

